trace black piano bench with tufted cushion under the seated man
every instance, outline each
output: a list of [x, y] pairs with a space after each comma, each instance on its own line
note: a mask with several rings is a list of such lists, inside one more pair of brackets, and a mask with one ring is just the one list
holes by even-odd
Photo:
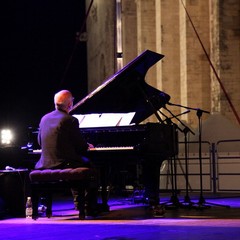
[[67, 168], [67, 169], [45, 169], [32, 170], [29, 174], [32, 205], [33, 205], [33, 219], [38, 218], [38, 205], [40, 196], [46, 198], [46, 216], [52, 216], [52, 193], [58, 187], [71, 187], [72, 184], [77, 184], [79, 187], [79, 218], [85, 218], [85, 186], [86, 181], [93, 176], [93, 171], [90, 168]]

